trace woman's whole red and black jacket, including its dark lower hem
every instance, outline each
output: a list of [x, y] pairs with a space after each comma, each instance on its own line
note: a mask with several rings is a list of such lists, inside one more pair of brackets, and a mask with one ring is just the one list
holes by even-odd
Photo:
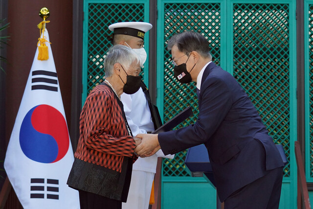
[[122, 102], [107, 85], [95, 87], [80, 116], [80, 138], [67, 185], [126, 202], [135, 142], [128, 135]]

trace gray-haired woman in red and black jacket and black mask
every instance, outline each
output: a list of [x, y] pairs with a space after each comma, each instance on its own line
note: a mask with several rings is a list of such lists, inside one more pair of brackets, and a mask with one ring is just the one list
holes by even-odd
[[67, 185], [79, 191], [81, 209], [121, 209], [131, 182], [136, 142], [120, 95], [140, 87], [140, 63], [127, 46], [113, 46], [104, 61], [106, 79], [88, 95]]

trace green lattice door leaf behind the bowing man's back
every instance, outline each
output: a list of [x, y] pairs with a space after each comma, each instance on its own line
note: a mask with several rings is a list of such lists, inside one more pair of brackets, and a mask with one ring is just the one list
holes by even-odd
[[[282, 144], [284, 168], [280, 209], [296, 208], [296, 1], [232, 1], [233, 38], [228, 68], [257, 108], [269, 134]], [[240, 2], [240, 3], [238, 3]], [[244, 20], [244, 21], [243, 21]]]

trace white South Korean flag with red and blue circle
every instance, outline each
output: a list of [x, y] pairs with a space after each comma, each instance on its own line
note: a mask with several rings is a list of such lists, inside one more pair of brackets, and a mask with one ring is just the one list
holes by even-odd
[[[46, 40], [49, 41], [47, 30]], [[78, 191], [67, 186], [74, 161], [59, 81], [49, 59], [31, 67], [6, 152], [4, 168], [24, 209], [79, 209]]]

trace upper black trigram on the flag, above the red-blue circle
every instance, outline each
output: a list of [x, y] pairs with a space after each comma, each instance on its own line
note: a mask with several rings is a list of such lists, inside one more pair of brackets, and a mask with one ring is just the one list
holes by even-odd
[[[38, 84], [38, 83], [45, 84]], [[57, 92], [58, 87], [53, 86], [58, 84], [57, 73], [45, 70], [34, 70], [32, 72], [31, 90], [43, 89], [48, 91]]]

